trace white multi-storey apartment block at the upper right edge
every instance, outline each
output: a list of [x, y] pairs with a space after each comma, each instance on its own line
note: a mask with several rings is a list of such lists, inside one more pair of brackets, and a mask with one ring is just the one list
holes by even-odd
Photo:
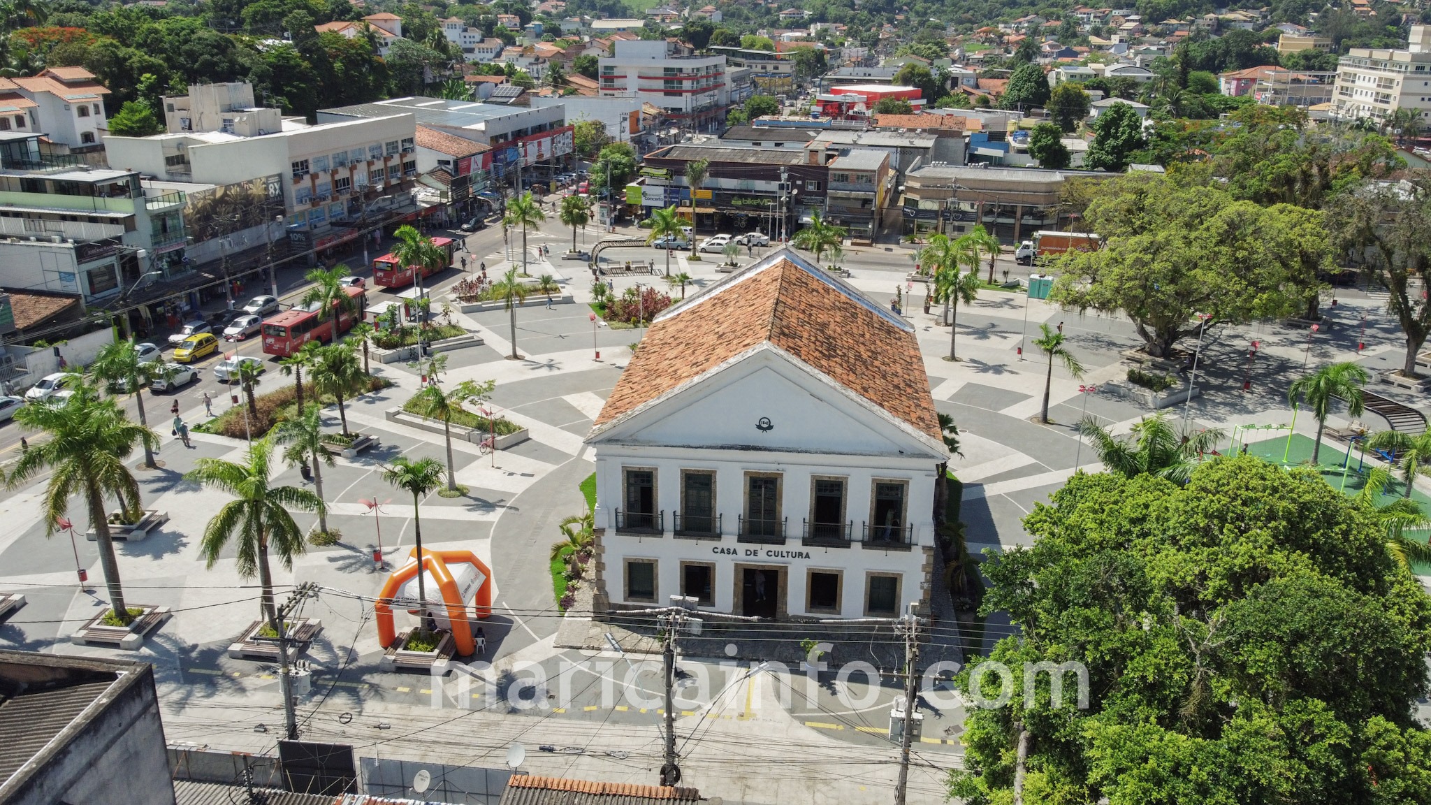
[[1405, 50], [1352, 47], [1337, 63], [1334, 117], [1379, 122], [1398, 109], [1431, 117], [1431, 26], [1411, 26]]

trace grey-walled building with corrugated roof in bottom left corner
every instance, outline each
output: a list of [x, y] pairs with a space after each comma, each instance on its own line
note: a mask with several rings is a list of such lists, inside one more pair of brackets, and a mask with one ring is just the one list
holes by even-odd
[[175, 805], [147, 663], [0, 652], [0, 802]]

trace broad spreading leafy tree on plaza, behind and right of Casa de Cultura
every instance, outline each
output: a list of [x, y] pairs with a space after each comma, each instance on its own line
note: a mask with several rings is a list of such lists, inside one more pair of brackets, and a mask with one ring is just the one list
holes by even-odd
[[1308, 292], [1302, 259], [1281, 248], [1278, 219], [1215, 186], [1110, 179], [1088, 202], [1085, 223], [1105, 246], [1060, 258], [1050, 298], [1123, 311], [1153, 357], [1195, 335], [1198, 314], [1209, 324], [1291, 315]]

